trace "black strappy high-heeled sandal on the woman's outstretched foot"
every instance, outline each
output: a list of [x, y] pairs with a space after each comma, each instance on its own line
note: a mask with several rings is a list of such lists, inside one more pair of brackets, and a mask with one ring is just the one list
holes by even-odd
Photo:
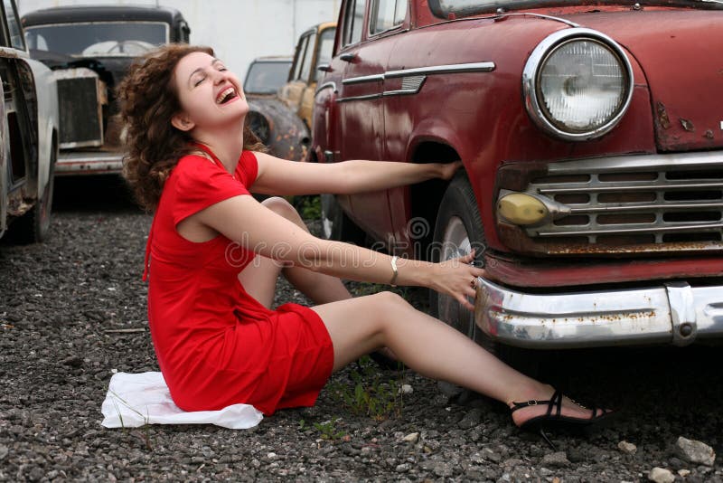
[[[575, 403], [573, 401], [573, 403]], [[549, 440], [548, 435], [545, 434], [545, 430], [581, 430], [599, 424], [603, 421], [608, 421], [610, 416], [614, 413], [610, 410], [593, 408], [593, 415], [589, 418], [573, 418], [570, 416], [562, 415], [562, 393], [555, 391], [552, 397], [548, 401], [525, 401], [523, 403], [512, 402], [511, 412], [515, 412], [519, 409], [526, 408], [529, 406], [537, 406], [540, 404], [547, 404], [548, 411], [541, 415], [535, 416], [534, 418], [524, 421], [520, 425], [520, 429], [524, 431], [532, 431], [540, 433], [540, 436], [549, 444], [552, 450], [555, 450], [555, 445]], [[576, 403], [581, 408], [585, 408], [582, 404]], [[552, 410], [555, 410], [554, 414]], [[587, 409], [587, 408], [586, 408]]]

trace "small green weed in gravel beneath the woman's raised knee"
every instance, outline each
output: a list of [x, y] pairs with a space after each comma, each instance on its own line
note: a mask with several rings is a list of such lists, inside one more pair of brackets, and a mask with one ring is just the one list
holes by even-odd
[[341, 382], [330, 384], [333, 398], [343, 403], [355, 414], [364, 414], [376, 421], [391, 417], [399, 418], [404, 408], [405, 371], [400, 368], [394, 378], [376, 369], [368, 355], [359, 359], [358, 369], [352, 369], [349, 377], [352, 384]]

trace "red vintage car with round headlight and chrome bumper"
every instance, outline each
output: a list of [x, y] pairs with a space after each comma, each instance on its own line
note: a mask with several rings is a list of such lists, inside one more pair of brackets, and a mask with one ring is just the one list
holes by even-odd
[[311, 161], [464, 162], [324, 197], [329, 236], [476, 247], [435, 315], [502, 356], [723, 336], [723, 2], [344, 0], [324, 70]]

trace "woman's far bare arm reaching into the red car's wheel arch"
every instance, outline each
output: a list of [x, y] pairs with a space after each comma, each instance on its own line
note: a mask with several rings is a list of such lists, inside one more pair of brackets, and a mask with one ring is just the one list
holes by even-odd
[[354, 194], [427, 179], [450, 179], [462, 166], [454, 163], [398, 163], [393, 161], [342, 161], [300, 163], [256, 153], [258, 176], [252, 191], [265, 194]]

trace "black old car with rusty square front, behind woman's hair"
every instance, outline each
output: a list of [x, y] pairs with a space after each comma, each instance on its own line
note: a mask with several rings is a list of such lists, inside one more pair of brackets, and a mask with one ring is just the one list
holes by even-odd
[[66, 6], [22, 19], [31, 55], [58, 80], [58, 175], [120, 173], [121, 127], [114, 89], [130, 64], [155, 46], [188, 43], [183, 15], [154, 6]]

